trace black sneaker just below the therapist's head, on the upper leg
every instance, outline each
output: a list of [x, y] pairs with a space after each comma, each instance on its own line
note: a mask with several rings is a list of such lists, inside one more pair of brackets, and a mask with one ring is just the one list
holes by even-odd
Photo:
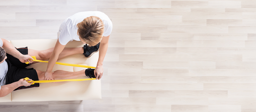
[[85, 57], [89, 58], [91, 55], [99, 51], [100, 43], [95, 46], [88, 46], [87, 44], [84, 45], [84, 55]]

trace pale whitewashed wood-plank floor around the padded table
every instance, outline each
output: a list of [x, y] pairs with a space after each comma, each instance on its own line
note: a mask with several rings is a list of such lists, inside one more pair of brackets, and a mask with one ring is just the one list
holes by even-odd
[[256, 112], [255, 0], [0, 0], [0, 38], [56, 39], [82, 11], [113, 22], [102, 99], [1, 112]]

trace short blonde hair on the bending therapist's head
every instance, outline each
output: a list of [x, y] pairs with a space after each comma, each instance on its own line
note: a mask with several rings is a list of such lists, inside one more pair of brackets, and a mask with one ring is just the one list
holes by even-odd
[[103, 21], [96, 16], [85, 18], [82, 22], [76, 25], [78, 28], [77, 35], [89, 45], [98, 44], [104, 32]]

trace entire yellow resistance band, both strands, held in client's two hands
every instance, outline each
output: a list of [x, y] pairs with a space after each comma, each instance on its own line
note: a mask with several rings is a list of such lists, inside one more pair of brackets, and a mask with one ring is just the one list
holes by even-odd
[[[42, 60], [37, 60], [37, 58], [35, 58], [35, 56], [31, 56], [34, 60], [33, 61], [38, 61], [38, 62], [48, 62], [48, 61], [42, 61]], [[32, 59], [30, 59], [32, 60]], [[29, 62], [26, 62], [26, 64], [28, 64]], [[73, 67], [84, 67], [84, 68], [93, 68], [95, 69], [96, 67], [91, 67], [91, 66], [85, 66], [85, 65], [79, 65], [79, 64], [69, 64], [69, 63], [61, 63], [61, 62], [56, 62], [56, 64], [60, 64], [60, 65], [65, 65], [65, 66], [73, 66]], [[24, 78], [25, 80], [28, 81], [28, 77]], [[85, 79], [65, 79], [65, 80], [37, 80], [37, 81], [33, 81], [32, 85], [34, 83], [46, 83], [46, 82], [63, 82], [63, 81], [85, 81], [85, 80], [96, 80], [96, 78], [85, 78]], [[32, 82], [32, 81], [28, 81], [28, 82]]]

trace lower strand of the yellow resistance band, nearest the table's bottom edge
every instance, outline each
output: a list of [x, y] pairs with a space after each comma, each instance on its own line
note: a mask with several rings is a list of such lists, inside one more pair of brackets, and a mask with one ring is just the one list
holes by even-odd
[[[25, 80], [28, 81], [28, 77], [24, 78]], [[85, 80], [96, 80], [96, 78], [85, 78], [85, 79], [65, 79], [65, 80], [31, 80], [31, 81], [28, 81], [28, 82], [32, 82], [32, 85], [34, 83], [46, 83], [46, 82], [63, 82], [63, 81], [85, 81]]]

